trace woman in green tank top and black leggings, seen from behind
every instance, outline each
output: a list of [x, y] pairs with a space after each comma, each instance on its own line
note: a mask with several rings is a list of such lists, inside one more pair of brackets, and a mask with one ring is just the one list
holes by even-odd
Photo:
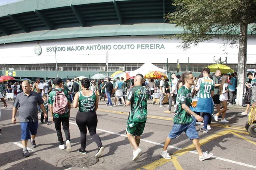
[[96, 95], [94, 91], [89, 90], [90, 80], [87, 78], [82, 79], [81, 88], [82, 91], [76, 93], [73, 103], [74, 108], [79, 107], [79, 111], [76, 114], [76, 124], [80, 130], [81, 148], [78, 151], [82, 154], [86, 153], [86, 127], [88, 127], [90, 136], [92, 137], [93, 141], [96, 142], [99, 148], [98, 152], [96, 153], [96, 157], [98, 158], [102, 156], [105, 149], [99, 135], [96, 133], [98, 123], [96, 111], [98, 109], [99, 96]]

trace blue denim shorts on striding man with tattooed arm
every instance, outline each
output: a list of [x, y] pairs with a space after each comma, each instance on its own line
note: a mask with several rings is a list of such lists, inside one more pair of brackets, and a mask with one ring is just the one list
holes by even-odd
[[198, 132], [195, 129], [195, 121], [192, 121], [186, 125], [180, 125], [175, 123], [172, 127], [172, 131], [169, 133], [168, 137], [174, 139], [179, 136], [182, 132], [185, 132], [186, 135], [191, 139], [198, 139]]

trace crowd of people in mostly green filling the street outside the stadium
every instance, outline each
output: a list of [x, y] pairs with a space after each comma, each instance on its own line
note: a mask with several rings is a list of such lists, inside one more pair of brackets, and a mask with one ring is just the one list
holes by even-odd
[[[209, 132], [211, 129], [212, 114], [214, 105], [216, 106], [217, 113], [213, 115], [215, 121], [221, 119], [221, 122], [227, 123], [225, 119], [227, 105], [235, 103], [237, 74], [229, 75], [223, 74], [221, 71], [215, 71], [215, 74], [210, 75], [209, 68], [204, 68], [199, 77], [193, 77], [191, 72], [183, 73], [181, 76], [173, 73], [171, 81], [161, 77], [161, 81], [157, 82], [153, 79], [145, 80], [143, 75], [137, 74], [134, 80], [129, 85], [119, 77], [116, 78], [115, 88], [111, 78], [107, 82], [104, 80], [90, 79], [67, 79], [66, 82], [61, 78], [53, 79], [53, 84], [40, 79], [35, 83], [23, 81], [19, 93], [16, 94], [13, 102], [12, 122], [16, 124], [16, 113], [19, 108], [20, 126], [21, 126], [21, 142], [23, 144], [23, 156], [28, 157], [30, 154], [27, 150], [27, 143], [30, 141], [31, 147], [36, 147], [35, 137], [38, 130], [38, 112], [41, 112], [41, 123], [49, 125], [48, 111], [51, 114], [51, 121], [54, 122], [55, 130], [58, 138], [58, 148], [67, 152], [71, 152], [71, 137], [69, 130], [69, 118], [71, 106], [78, 108], [76, 114], [76, 124], [80, 130], [80, 143], [81, 147], [79, 153], [86, 153], [86, 133], [87, 128], [93, 141], [96, 142], [98, 151], [96, 157], [102, 156], [105, 148], [101, 142], [99, 135], [96, 133], [98, 123], [96, 111], [102, 98], [108, 107], [118, 105], [128, 106], [131, 105], [131, 111], [127, 120], [126, 134], [129, 142], [134, 147], [133, 161], [139, 159], [143, 153], [140, 149], [140, 136], [143, 134], [145, 123], [147, 120], [147, 104], [148, 99], [152, 99], [152, 94], [156, 90], [160, 92], [160, 107], [163, 106], [163, 98], [165, 94], [169, 98], [168, 111], [172, 112], [172, 102], [174, 102], [174, 125], [172, 131], [169, 133], [165, 140], [163, 150], [160, 155], [165, 159], [172, 159], [167, 152], [167, 147], [177, 136], [185, 132], [186, 135], [192, 140], [198, 151], [199, 160], [203, 161], [212, 157], [212, 153], [201, 151], [198, 141], [198, 132], [195, 125], [203, 125], [201, 128], [204, 133]], [[248, 73], [247, 77], [252, 79], [250, 84], [246, 83], [248, 88], [251, 88], [251, 104], [256, 103], [256, 79], [253, 74]], [[230, 80], [230, 81], [229, 81]], [[17, 86], [17, 83], [15, 83]], [[159, 86], [158, 86], [159, 85]], [[6, 86], [7, 91], [12, 88], [11, 83]], [[158, 88], [159, 87], [159, 88]], [[15, 87], [16, 89], [18, 87]], [[1, 88], [2, 89], [2, 88]], [[114, 103], [111, 101], [111, 96], [114, 94]], [[127, 97], [127, 98], [126, 98]], [[107, 101], [106, 101], [107, 98]], [[0, 99], [6, 102], [0, 94]], [[192, 105], [193, 101], [197, 101]], [[220, 107], [223, 105], [223, 109]], [[72, 105], [73, 104], [73, 105]], [[247, 110], [248, 111], [248, 110]], [[247, 111], [242, 114], [246, 115]], [[222, 114], [222, 115], [221, 115]], [[64, 130], [66, 142], [64, 142], [61, 124]], [[66, 144], [66, 147], [65, 147]]]

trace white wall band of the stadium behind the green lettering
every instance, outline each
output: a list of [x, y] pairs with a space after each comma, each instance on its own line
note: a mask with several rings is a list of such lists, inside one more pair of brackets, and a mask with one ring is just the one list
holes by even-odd
[[[177, 40], [164, 40], [157, 36], [132, 36], [132, 37], [97, 37], [97, 38], [81, 38], [66, 40], [49, 40], [40, 41], [42, 53], [36, 55], [34, 52], [35, 45], [38, 42], [23, 42], [0, 45], [0, 64], [41, 64], [55, 63], [54, 52], [47, 52], [47, 48], [65, 47], [66, 51], [57, 51], [58, 63], [105, 63], [106, 51], [109, 52], [109, 63], [165, 63], [169, 58], [169, 63], [176, 63], [180, 59], [180, 63], [187, 63], [188, 57], [190, 63], [215, 63], [218, 57], [227, 56], [229, 64], [237, 63], [238, 47], [223, 47], [223, 42], [214, 39], [211, 42], [200, 43], [197, 47], [192, 47], [187, 51], [177, 48], [180, 45]], [[86, 50], [87, 45], [111, 45], [110, 50]], [[133, 44], [134, 49], [113, 49], [114, 45]], [[137, 45], [141, 44], [163, 44], [165, 49], [137, 49]], [[84, 51], [67, 51], [68, 46], [84, 46]], [[256, 36], [248, 37], [247, 47], [247, 63], [256, 63]], [[102, 51], [102, 52], [99, 52]], [[227, 52], [227, 54], [224, 54]], [[88, 55], [90, 54], [90, 55]]]

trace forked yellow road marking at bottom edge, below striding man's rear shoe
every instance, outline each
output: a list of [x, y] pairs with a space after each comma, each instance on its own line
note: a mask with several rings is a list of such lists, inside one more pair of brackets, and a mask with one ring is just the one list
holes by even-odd
[[[173, 156], [172, 155], [172, 159], [164, 159], [164, 158], [161, 158], [157, 161], [154, 161], [150, 164], [147, 164], [143, 167], [141, 167], [142, 169], [146, 169], [146, 170], [154, 170], [156, 169], [157, 167], [167, 163], [167, 162], [171, 162], [173, 163], [174, 167], [176, 168], [176, 170], [183, 170], [183, 168], [181, 167], [179, 161], [177, 160], [177, 156]], [[139, 169], [138, 169], [139, 170]]]

